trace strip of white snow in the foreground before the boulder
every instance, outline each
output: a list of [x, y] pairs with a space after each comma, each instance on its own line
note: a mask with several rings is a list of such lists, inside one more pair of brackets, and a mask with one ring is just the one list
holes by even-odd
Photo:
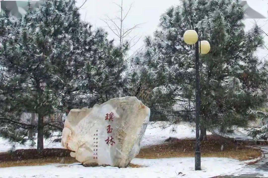
[[244, 167], [244, 163], [229, 158], [202, 158], [202, 170], [195, 171], [194, 158], [133, 159], [141, 168], [83, 167], [74, 164], [50, 164], [44, 166], [22, 166], [0, 168], [2, 178], [15, 177], [95, 177], [95, 178], [139, 178], [139, 177], [184, 177], [208, 178], [217, 175], [231, 175]]

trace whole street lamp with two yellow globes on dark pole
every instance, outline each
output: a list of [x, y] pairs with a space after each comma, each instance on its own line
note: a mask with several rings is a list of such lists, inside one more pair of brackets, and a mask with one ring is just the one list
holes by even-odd
[[[192, 22], [191, 22], [192, 24]], [[192, 24], [193, 27], [193, 24]], [[203, 31], [202, 31], [203, 34]], [[201, 33], [198, 35], [198, 28], [195, 30], [187, 30], [183, 35], [183, 40], [188, 45], [195, 44], [195, 124], [196, 124], [196, 143], [195, 143], [195, 170], [201, 170], [201, 152], [200, 152], [200, 140], [199, 140], [199, 128], [200, 128], [200, 74], [199, 74], [199, 53], [207, 54], [210, 51], [210, 44], [208, 41], [201, 41]], [[204, 36], [204, 35], [203, 35]]]

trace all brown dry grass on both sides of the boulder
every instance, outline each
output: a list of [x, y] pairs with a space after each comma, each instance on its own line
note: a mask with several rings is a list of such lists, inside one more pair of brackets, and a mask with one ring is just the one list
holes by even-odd
[[[202, 157], [227, 157], [238, 160], [251, 160], [261, 156], [258, 149], [247, 148], [246, 145], [238, 144], [232, 139], [217, 135], [208, 136], [206, 141], [200, 144]], [[171, 157], [194, 157], [195, 140], [179, 140], [169, 138], [165, 144], [142, 148], [137, 158], [158, 159]], [[33, 166], [51, 163], [71, 164], [77, 160], [70, 157], [70, 150], [44, 149], [38, 153], [36, 149], [16, 150], [12, 153], [0, 154], [0, 167]], [[61, 165], [60, 165], [61, 166]], [[66, 165], [62, 165], [66, 166]], [[131, 168], [140, 168], [141, 165], [129, 164]]]

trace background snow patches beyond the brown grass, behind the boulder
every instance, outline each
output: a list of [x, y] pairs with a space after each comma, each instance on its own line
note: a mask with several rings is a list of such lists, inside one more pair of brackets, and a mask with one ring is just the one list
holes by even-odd
[[[163, 126], [167, 127], [163, 129]], [[144, 134], [144, 138], [141, 142], [142, 147], [149, 145], [157, 145], [163, 143], [169, 137], [176, 137], [178, 139], [195, 138], [195, 127], [189, 123], [181, 123], [173, 131], [173, 126], [168, 126], [166, 122], [151, 122], [148, 124]], [[210, 134], [208, 132], [208, 134]], [[55, 138], [54, 138], [55, 139]], [[36, 141], [37, 143], [37, 141]], [[16, 144], [15, 149], [29, 149], [36, 148], [31, 147], [30, 143], [25, 145]], [[51, 140], [44, 140], [44, 148], [63, 148], [59, 142], [52, 142]], [[0, 137], [0, 152], [10, 151], [12, 144], [7, 139]]]

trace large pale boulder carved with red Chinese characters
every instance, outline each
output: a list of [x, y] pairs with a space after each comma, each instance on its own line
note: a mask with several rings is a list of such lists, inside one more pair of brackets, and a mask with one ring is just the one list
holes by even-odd
[[84, 166], [127, 167], [140, 151], [150, 109], [136, 97], [70, 110], [61, 144]]

